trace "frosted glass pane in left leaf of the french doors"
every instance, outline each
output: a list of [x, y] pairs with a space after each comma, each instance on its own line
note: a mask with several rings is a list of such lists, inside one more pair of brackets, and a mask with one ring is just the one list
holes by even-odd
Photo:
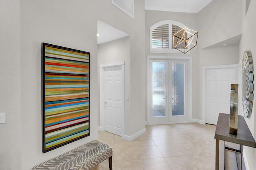
[[166, 115], [166, 63], [152, 63], [152, 116]]

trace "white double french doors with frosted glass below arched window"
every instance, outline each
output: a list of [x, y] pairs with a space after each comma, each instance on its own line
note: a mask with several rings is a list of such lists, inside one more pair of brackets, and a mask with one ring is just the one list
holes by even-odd
[[187, 122], [187, 61], [151, 59], [148, 124]]

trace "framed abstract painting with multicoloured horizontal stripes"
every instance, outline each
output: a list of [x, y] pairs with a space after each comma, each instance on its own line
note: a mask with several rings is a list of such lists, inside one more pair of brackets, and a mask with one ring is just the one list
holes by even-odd
[[42, 43], [43, 153], [90, 135], [90, 53]]

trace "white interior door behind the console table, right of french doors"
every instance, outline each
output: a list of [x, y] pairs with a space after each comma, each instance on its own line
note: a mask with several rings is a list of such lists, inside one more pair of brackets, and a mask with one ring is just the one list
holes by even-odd
[[219, 113], [230, 113], [230, 84], [237, 67], [206, 69], [206, 123], [216, 125]]

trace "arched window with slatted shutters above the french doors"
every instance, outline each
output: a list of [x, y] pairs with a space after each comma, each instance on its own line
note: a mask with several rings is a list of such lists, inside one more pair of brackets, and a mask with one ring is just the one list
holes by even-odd
[[151, 53], [181, 53], [173, 48], [172, 35], [185, 25], [172, 20], [160, 21], [150, 27]]

